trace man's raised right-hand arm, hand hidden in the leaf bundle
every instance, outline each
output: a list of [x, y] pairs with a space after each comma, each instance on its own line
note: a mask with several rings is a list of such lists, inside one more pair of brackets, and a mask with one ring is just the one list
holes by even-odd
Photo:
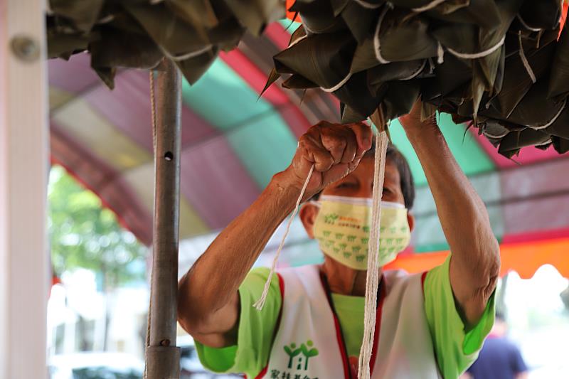
[[460, 169], [435, 117], [420, 121], [421, 103], [400, 122], [419, 160], [450, 245], [450, 283], [467, 327], [477, 324], [496, 288], [499, 245], [486, 206]]

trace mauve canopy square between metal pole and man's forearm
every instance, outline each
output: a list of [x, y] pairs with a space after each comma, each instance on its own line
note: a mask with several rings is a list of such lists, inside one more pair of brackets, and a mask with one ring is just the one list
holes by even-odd
[[260, 194], [224, 136], [182, 151], [181, 191], [213, 229], [224, 228]]

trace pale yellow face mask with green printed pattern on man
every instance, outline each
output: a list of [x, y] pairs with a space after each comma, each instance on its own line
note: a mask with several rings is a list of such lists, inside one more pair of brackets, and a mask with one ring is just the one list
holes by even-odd
[[[323, 195], [312, 203], [320, 208], [314, 221], [314, 237], [322, 252], [352, 269], [367, 269], [371, 198]], [[379, 265], [393, 261], [410, 239], [407, 208], [382, 201]]]

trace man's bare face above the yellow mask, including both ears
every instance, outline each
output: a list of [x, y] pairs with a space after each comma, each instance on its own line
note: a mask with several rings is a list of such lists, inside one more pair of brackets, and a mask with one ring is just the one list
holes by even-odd
[[[371, 198], [373, 193], [373, 158], [361, 160], [357, 169], [345, 178], [331, 183], [324, 188], [321, 194], [334, 196], [349, 196], [352, 198]], [[385, 179], [383, 181], [382, 201], [400, 203], [405, 205], [403, 191], [401, 190], [401, 176], [397, 166], [387, 159], [385, 161]], [[300, 218], [304, 229], [309, 237], [314, 238], [313, 227], [317, 218], [319, 208], [316, 205], [307, 203], [300, 210]], [[415, 220], [413, 215], [408, 213], [409, 228], [413, 230]]]

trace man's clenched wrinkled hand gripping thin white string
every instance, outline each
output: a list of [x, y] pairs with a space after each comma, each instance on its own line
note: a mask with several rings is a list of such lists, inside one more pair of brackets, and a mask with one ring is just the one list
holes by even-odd
[[304, 200], [355, 170], [371, 148], [371, 127], [366, 124], [331, 124], [321, 121], [300, 137], [290, 166], [282, 172], [287, 186], [300, 190], [310, 167], [314, 173]]

